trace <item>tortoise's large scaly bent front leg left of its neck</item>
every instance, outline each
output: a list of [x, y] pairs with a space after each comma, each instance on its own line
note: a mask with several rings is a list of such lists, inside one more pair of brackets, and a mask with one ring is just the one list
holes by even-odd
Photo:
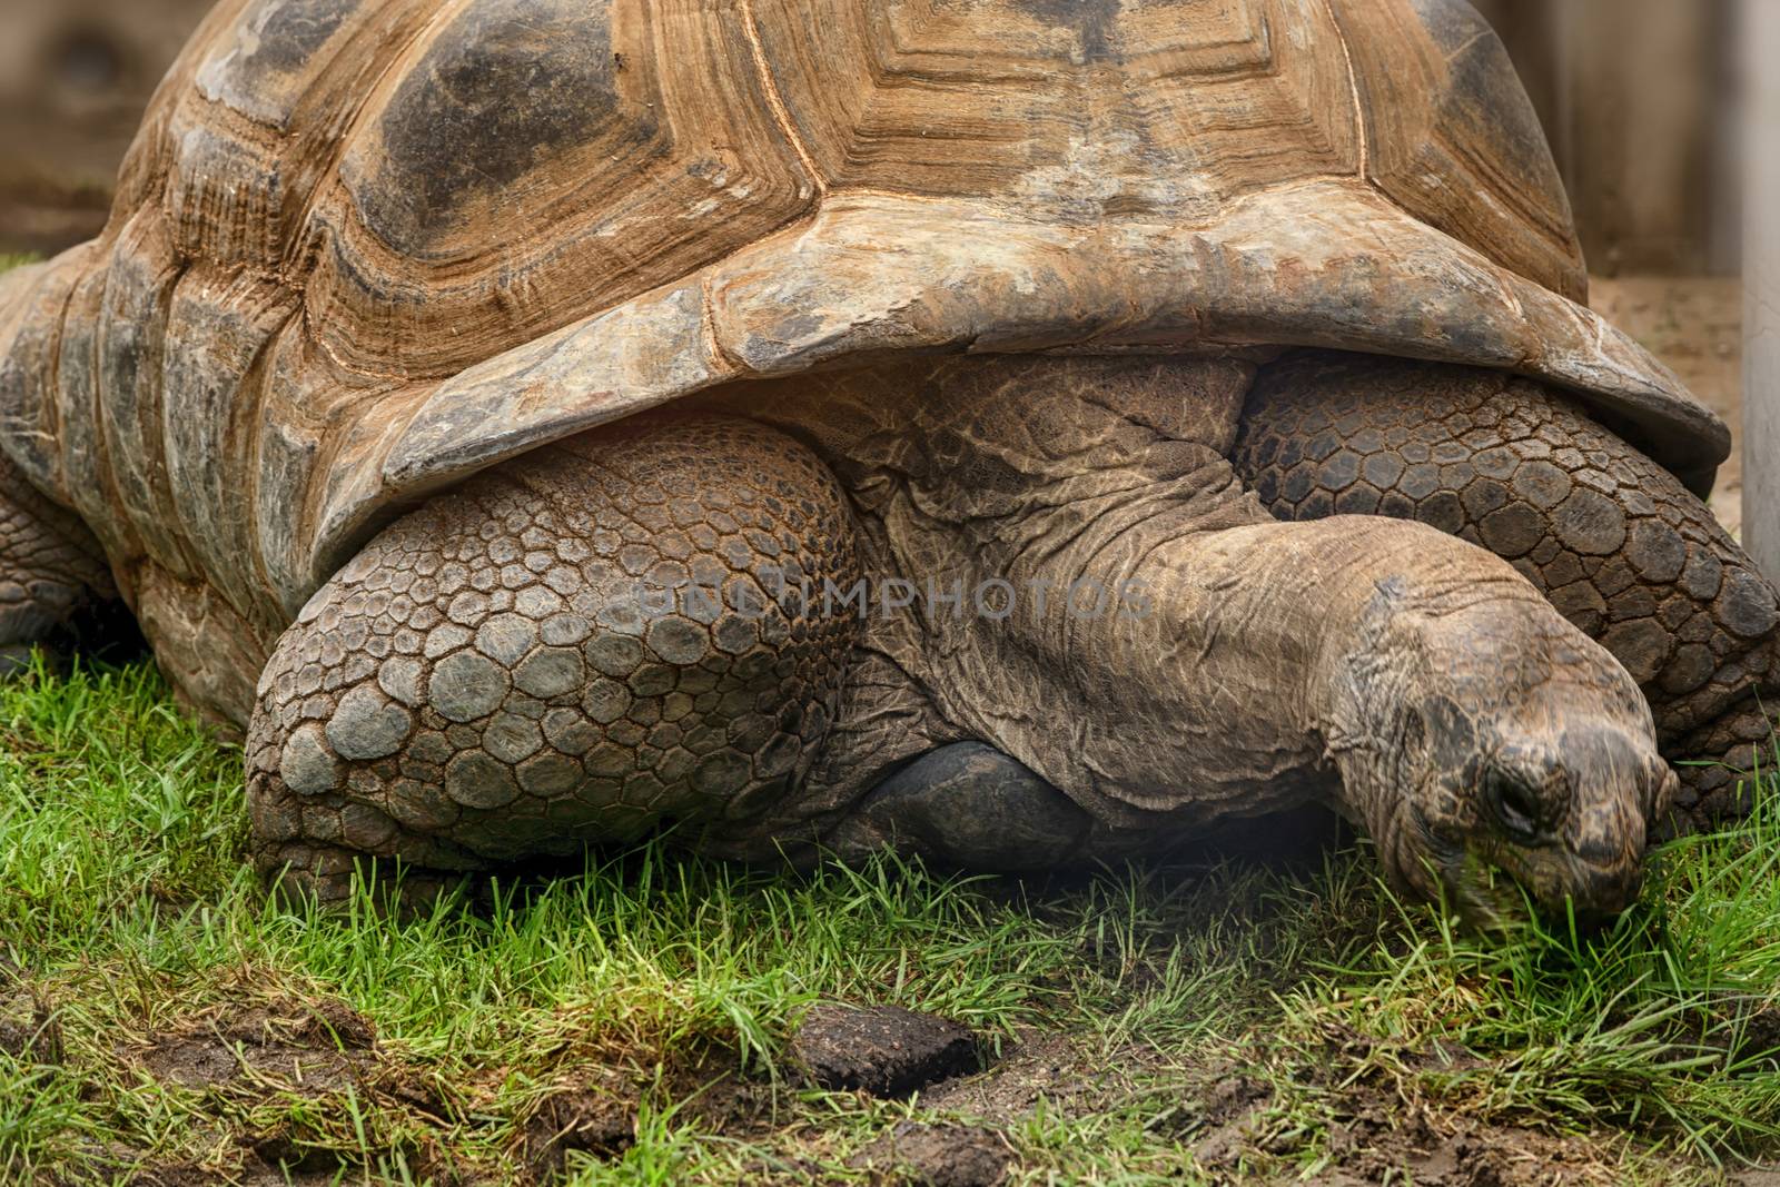
[[835, 715], [858, 623], [799, 578], [858, 580], [853, 532], [813, 454], [714, 416], [625, 422], [434, 498], [265, 669], [256, 863], [326, 900], [363, 856], [473, 870], [744, 831]]

